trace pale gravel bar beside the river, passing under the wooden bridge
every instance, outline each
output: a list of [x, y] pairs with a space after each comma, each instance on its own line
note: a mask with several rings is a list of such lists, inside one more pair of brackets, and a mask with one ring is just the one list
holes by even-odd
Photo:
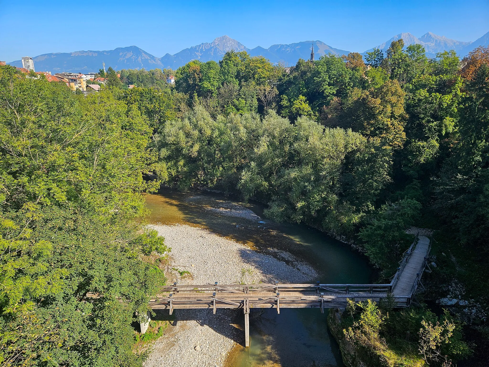
[[[227, 209], [224, 215], [241, 213], [240, 216], [248, 210], [222, 209]], [[289, 252], [258, 252], [208, 229], [189, 225], [151, 227], [172, 248], [172, 267], [177, 274], [184, 274], [178, 279], [180, 284], [300, 283], [317, 278], [311, 266]], [[209, 310], [175, 310], [175, 321], [153, 345], [145, 366], [221, 367], [233, 347], [243, 344], [242, 319], [241, 310], [218, 309], [216, 315]]]

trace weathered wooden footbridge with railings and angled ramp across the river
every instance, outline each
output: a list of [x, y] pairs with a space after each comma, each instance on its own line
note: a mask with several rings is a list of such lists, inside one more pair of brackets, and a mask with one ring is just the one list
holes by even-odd
[[[244, 312], [244, 340], [249, 346], [250, 308], [344, 308], [347, 299], [378, 302], [390, 294], [394, 307], [409, 307], [421, 276], [429, 270], [427, 259], [430, 252], [427, 237], [418, 236], [404, 252], [400, 267], [389, 284], [205, 284], [166, 286], [157, 297], [150, 299], [153, 310], [208, 308], [216, 313], [218, 308], [242, 308]], [[428, 269], [426, 269], [428, 268]], [[141, 332], [148, 328], [148, 318], [141, 322]]]

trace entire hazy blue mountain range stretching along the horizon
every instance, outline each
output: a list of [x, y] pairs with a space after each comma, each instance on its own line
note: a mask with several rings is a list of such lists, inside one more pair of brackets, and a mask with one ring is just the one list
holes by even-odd
[[[411, 44], [424, 46], [428, 57], [435, 57], [436, 53], [454, 49], [460, 56], [467, 55], [472, 49], [478, 46], [489, 45], [489, 32], [474, 42], [461, 42], [438, 36], [431, 32], [422, 35], [420, 38], [411, 33], [400, 33], [381, 45], [376, 46], [385, 51], [389, 48], [392, 41], [402, 38], [407, 47]], [[216, 38], [211, 43], [202, 43], [197, 46], [185, 48], [175, 55], [167, 53], [163, 57], [156, 57], [142, 50], [137, 46], [117, 47], [107, 51], [75, 51], [64, 53], [46, 53], [33, 58], [36, 71], [55, 72], [96, 72], [102, 68], [105, 62], [107, 68], [111, 66], [115, 70], [120, 69], [178, 69], [191, 60], [206, 62], [210, 60], [219, 61], [222, 56], [230, 50], [246, 51], [251, 56], [264, 56], [272, 63], [283, 63], [286, 66], [293, 66], [299, 58], [308, 60], [311, 54], [311, 45], [314, 45], [316, 59], [325, 54], [343, 55], [350, 51], [333, 48], [321, 41], [304, 41], [289, 45], [272, 45], [268, 48], [261, 46], [248, 48], [238, 41], [222, 36]], [[362, 55], [366, 55], [373, 48], [366, 50]], [[9, 65], [22, 67], [22, 61], [17, 60]]]

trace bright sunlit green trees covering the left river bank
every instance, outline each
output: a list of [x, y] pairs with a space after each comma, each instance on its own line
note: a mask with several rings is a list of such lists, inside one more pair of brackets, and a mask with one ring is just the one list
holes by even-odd
[[158, 187], [142, 177], [152, 130], [115, 95], [0, 67], [4, 364], [141, 364], [133, 314], [164, 281], [141, 255], [166, 249], [135, 220]]

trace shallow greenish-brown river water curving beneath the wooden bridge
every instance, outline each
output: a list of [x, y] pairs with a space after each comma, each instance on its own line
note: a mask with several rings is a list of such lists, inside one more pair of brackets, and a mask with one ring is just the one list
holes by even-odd
[[[170, 190], [147, 195], [146, 203], [151, 210], [150, 223], [209, 229], [286, 263], [287, 253], [291, 253], [316, 270], [318, 278], [314, 281], [369, 283], [373, 275], [368, 260], [349, 246], [307, 226], [263, 218], [264, 206], [260, 204], [234, 202], [216, 194]], [[252, 212], [242, 215], [235, 210], [237, 205]], [[250, 347], [238, 345], [224, 366], [343, 366], [326, 319], [326, 310], [321, 314], [319, 309], [282, 308], [279, 315], [276, 309], [251, 309]], [[242, 313], [237, 315], [236, 323], [244, 327]], [[243, 344], [241, 339], [235, 341]]]

